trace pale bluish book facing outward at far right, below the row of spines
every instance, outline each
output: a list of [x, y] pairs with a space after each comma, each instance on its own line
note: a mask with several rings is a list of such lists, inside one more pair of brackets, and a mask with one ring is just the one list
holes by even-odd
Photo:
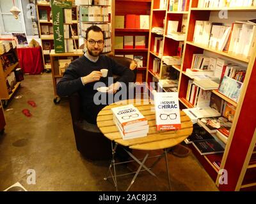
[[230, 77], [223, 77], [223, 80], [221, 81], [219, 92], [228, 98], [232, 99], [233, 101], [238, 101], [241, 89], [243, 87], [242, 82], [238, 82], [237, 80], [234, 80]]

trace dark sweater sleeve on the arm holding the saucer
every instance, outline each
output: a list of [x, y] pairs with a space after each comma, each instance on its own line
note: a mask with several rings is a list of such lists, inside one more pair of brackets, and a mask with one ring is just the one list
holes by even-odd
[[129, 68], [126, 68], [125, 66], [122, 66], [121, 64], [118, 64], [113, 59], [110, 60], [112, 64], [113, 74], [120, 76], [118, 82], [124, 82], [125, 84], [132, 82], [132, 80], [134, 79], [133, 71]]

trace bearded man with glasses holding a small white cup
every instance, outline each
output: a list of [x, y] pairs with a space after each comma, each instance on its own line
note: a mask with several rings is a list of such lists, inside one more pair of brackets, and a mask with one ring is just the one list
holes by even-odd
[[106, 106], [93, 103], [93, 96], [97, 92], [93, 90], [93, 85], [96, 82], [102, 82], [100, 69], [108, 69], [108, 77], [113, 77], [113, 74], [120, 76], [115, 84], [106, 84], [110, 90], [108, 94], [115, 94], [121, 86], [120, 82], [125, 84], [132, 82], [134, 74], [129, 68], [116, 63], [110, 57], [100, 55], [104, 48], [104, 33], [100, 27], [96, 25], [88, 27], [84, 44], [87, 52], [70, 63], [63, 78], [57, 84], [57, 94], [70, 96], [78, 92], [82, 99], [84, 119], [96, 124], [97, 114]]

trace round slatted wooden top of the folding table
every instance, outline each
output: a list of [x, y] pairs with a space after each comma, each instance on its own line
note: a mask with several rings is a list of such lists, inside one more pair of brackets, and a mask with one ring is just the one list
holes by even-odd
[[[140, 112], [146, 117], [149, 124], [148, 135], [142, 138], [134, 138], [131, 140], [123, 140], [122, 136], [118, 132], [116, 125], [113, 121], [113, 113], [111, 108], [116, 106], [122, 106], [127, 104], [133, 104], [140, 110]], [[173, 147], [180, 142], [184, 141], [191, 135], [193, 131], [193, 123], [189, 119], [186, 113], [180, 111], [181, 129], [177, 131], [157, 131], [156, 130], [156, 117], [154, 112], [154, 105], [152, 101], [142, 101], [140, 104], [136, 104], [135, 99], [119, 101], [104, 107], [97, 116], [97, 126], [100, 131], [109, 140], [115, 141], [120, 145], [127, 146], [131, 149], [138, 150], [158, 150]]]

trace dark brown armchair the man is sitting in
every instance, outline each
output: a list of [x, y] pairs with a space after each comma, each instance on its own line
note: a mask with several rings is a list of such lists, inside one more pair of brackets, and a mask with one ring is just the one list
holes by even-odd
[[[130, 68], [134, 66], [132, 59], [125, 57], [113, 57], [119, 64]], [[134, 82], [136, 81], [136, 68], [134, 72]], [[114, 76], [114, 81], [118, 76]], [[100, 132], [97, 125], [90, 124], [83, 119], [81, 113], [81, 99], [79, 94], [73, 94], [69, 97], [70, 112], [72, 116], [72, 124], [74, 135], [76, 138], [76, 147], [79, 152], [91, 160], [105, 160], [111, 158], [111, 142]]]

